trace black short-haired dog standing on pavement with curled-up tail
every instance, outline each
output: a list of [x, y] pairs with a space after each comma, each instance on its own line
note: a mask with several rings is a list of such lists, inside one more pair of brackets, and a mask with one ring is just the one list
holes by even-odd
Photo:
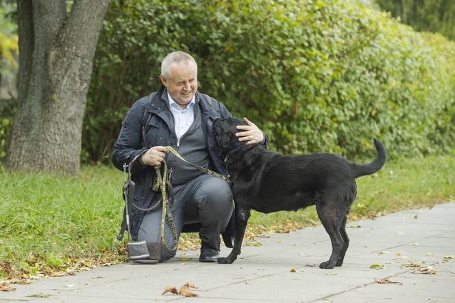
[[215, 119], [213, 132], [223, 156], [227, 157], [235, 201], [236, 236], [234, 248], [218, 263], [232, 263], [241, 245], [250, 210], [273, 213], [316, 205], [317, 215], [332, 241], [332, 254], [321, 268], [343, 265], [349, 238], [345, 226], [347, 213], [356, 198], [356, 178], [379, 171], [386, 151], [378, 139], [378, 155], [367, 165], [358, 165], [334, 154], [283, 156], [260, 145], [245, 145], [235, 136], [236, 118]]

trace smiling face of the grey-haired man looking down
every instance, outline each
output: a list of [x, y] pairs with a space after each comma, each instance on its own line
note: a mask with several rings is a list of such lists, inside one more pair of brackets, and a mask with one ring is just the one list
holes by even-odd
[[161, 75], [161, 82], [181, 108], [186, 108], [197, 92], [197, 67], [193, 62], [171, 65], [171, 79]]

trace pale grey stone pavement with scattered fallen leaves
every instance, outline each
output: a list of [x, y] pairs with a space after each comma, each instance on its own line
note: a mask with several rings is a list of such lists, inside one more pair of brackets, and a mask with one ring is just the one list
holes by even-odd
[[[258, 238], [262, 247], [243, 247], [232, 265], [199, 263], [199, 252], [181, 252], [160, 265], [128, 263], [14, 285], [16, 291], [0, 292], [0, 302], [455, 302], [455, 203], [348, 226], [345, 264], [335, 269], [318, 267], [331, 252], [328, 234], [305, 228]], [[425, 269], [405, 266], [412, 263], [436, 274], [413, 274]], [[186, 282], [199, 287], [197, 297], [161, 295]]]

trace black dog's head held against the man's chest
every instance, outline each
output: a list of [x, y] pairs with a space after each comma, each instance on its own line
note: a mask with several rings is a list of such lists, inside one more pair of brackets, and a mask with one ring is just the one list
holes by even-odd
[[213, 121], [213, 134], [223, 157], [245, 144], [238, 141], [236, 137], [237, 125], [246, 125], [246, 123], [237, 118], [218, 118]]

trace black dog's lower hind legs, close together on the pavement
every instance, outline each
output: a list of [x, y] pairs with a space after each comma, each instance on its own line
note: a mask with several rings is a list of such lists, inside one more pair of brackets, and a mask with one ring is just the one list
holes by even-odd
[[334, 207], [334, 202], [319, 201], [316, 203], [316, 210], [325, 231], [330, 236], [332, 242], [332, 254], [329, 260], [321, 263], [319, 268], [332, 269], [335, 267], [337, 260], [345, 245], [343, 237], [341, 236], [341, 222], [343, 219], [340, 218], [339, 209]]

